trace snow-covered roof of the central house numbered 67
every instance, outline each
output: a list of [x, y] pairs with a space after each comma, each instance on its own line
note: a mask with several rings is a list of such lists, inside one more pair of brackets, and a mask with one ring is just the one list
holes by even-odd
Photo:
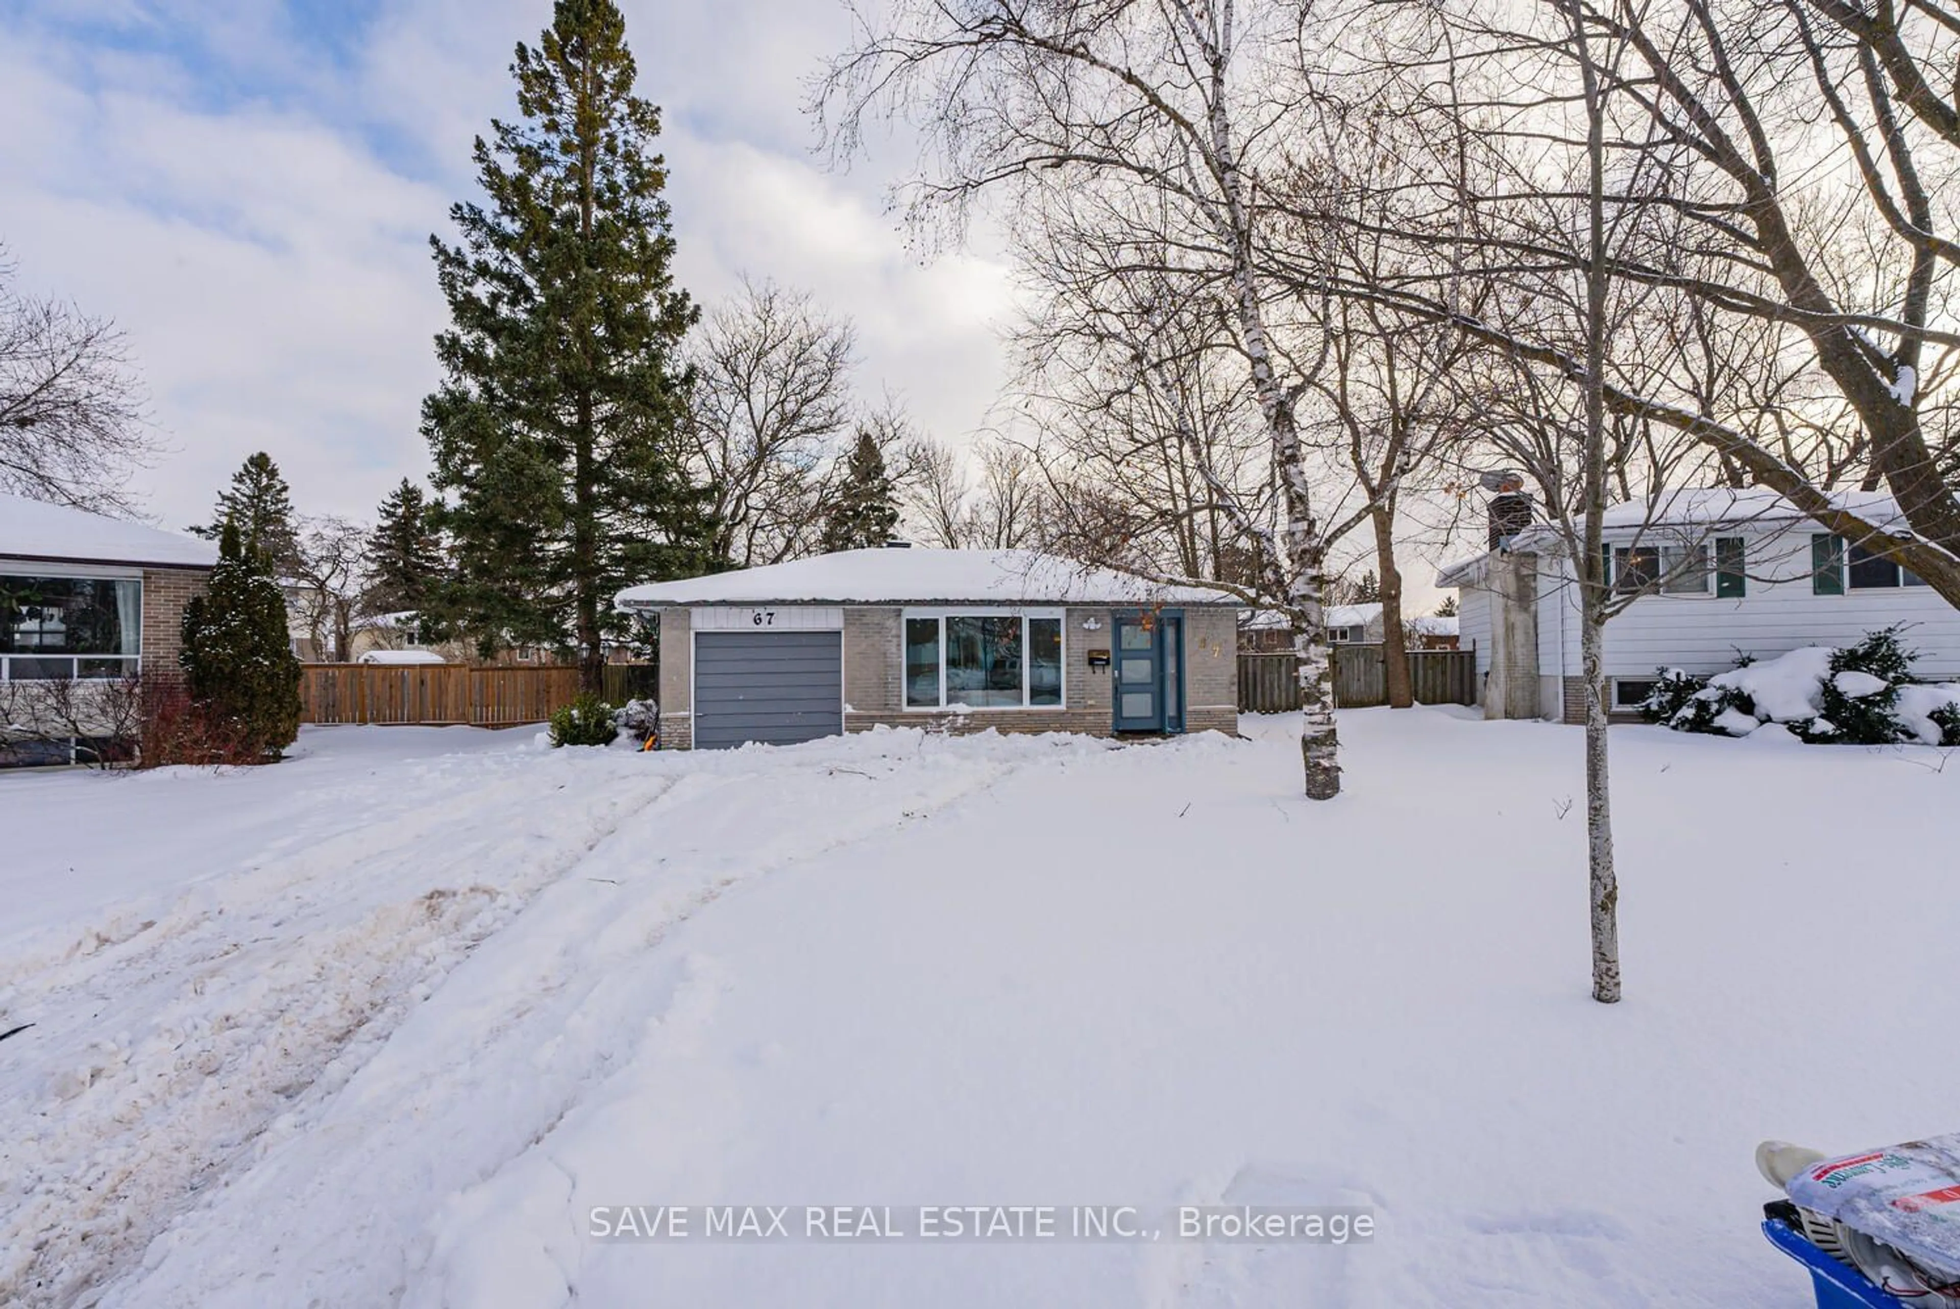
[[837, 551], [764, 568], [629, 586], [621, 609], [717, 604], [1237, 604], [1035, 551]]

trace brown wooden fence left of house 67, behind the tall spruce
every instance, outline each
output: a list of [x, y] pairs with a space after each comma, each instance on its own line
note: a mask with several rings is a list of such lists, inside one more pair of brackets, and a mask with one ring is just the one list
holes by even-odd
[[[613, 703], [647, 682], [635, 664], [608, 664], [606, 674]], [[304, 664], [300, 670], [302, 723], [517, 727], [543, 723], [576, 696], [578, 668], [568, 664]]]

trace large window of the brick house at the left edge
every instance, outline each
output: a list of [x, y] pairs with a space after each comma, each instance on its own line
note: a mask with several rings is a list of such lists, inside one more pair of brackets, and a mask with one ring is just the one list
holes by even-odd
[[133, 676], [141, 641], [137, 578], [0, 576], [0, 680]]

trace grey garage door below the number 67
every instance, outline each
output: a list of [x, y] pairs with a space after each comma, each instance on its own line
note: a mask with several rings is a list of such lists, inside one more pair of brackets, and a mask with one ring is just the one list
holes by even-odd
[[843, 700], [843, 633], [704, 631], [694, 637], [698, 751], [841, 735]]

